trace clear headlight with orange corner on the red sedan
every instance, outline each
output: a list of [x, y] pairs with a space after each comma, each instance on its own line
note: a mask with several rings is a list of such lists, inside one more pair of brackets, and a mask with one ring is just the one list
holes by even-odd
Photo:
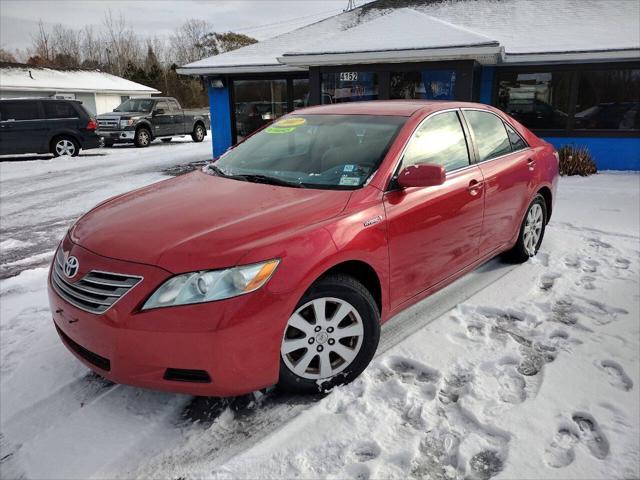
[[280, 260], [275, 259], [225, 270], [177, 275], [160, 285], [142, 309], [211, 302], [253, 292], [267, 283], [278, 263]]

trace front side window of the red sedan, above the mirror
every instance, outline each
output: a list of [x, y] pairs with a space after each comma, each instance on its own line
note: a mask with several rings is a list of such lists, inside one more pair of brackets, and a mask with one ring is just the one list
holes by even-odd
[[469, 165], [467, 142], [456, 112], [429, 118], [413, 134], [402, 157], [402, 166], [418, 163], [435, 163], [446, 171]]

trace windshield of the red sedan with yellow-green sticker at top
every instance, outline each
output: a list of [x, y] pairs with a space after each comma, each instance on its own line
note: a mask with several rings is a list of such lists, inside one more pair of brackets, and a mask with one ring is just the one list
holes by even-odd
[[394, 116], [290, 115], [228, 151], [213, 170], [246, 181], [359, 188], [376, 171], [405, 121]]

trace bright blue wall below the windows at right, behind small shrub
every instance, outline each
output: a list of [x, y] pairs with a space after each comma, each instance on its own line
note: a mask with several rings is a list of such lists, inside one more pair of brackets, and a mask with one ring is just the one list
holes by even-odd
[[640, 138], [544, 137], [560, 148], [563, 145], [587, 147], [598, 170], [640, 170]]

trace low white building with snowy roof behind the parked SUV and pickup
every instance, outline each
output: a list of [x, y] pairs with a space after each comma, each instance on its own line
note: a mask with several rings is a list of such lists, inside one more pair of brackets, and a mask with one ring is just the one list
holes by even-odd
[[53, 70], [0, 64], [0, 99], [54, 97], [80, 100], [94, 115], [110, 112], [129, 97], [158, 90], [98, 70]]

